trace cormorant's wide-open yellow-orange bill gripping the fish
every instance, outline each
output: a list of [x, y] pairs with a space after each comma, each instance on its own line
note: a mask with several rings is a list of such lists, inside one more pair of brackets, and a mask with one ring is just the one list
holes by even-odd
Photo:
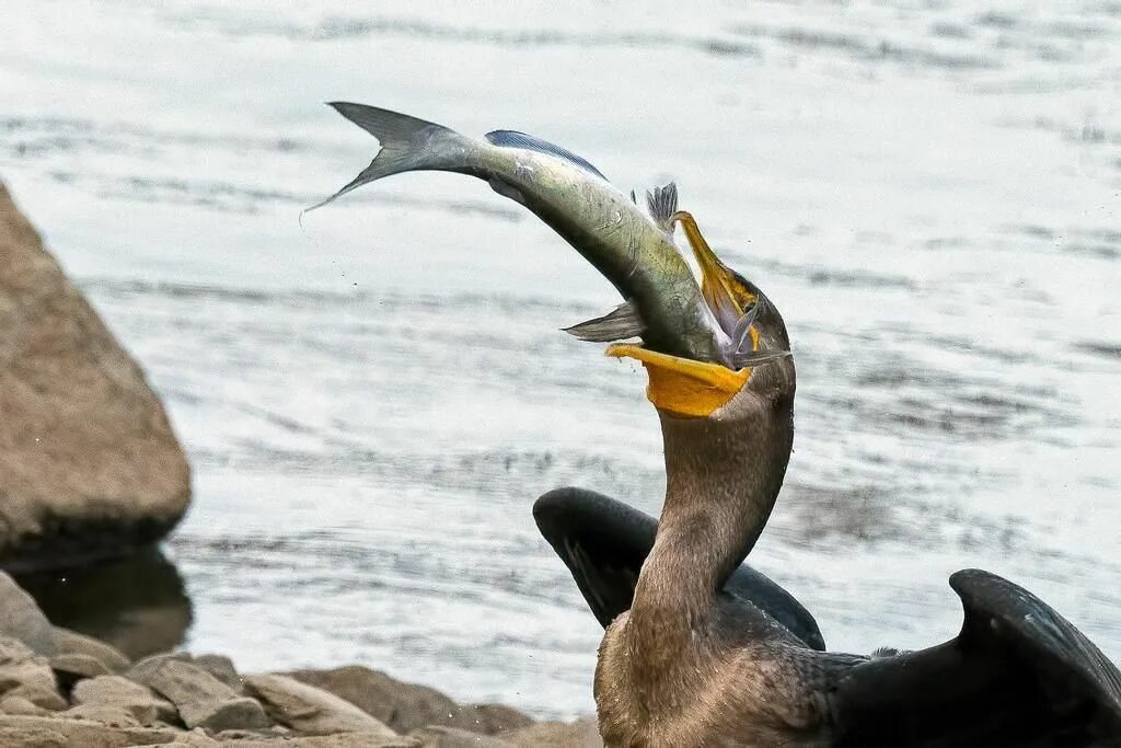
[[606, 354], [642, 363], [650, 378], [647, 397], [659, 410], [678, 416], [706, 417], [743, 389], [753, 367], [789, 355], [789, 351], [760, 350], [756, 322], [766, 301], [742, 276], [716, 257], [693, 215], [677, 211], [669, 221], [670, 224], [680, 224], [701, 268], [701, 293], [723, 333], [721, 348], [724, 360], [701, 361], [627, 343], [609, 345]]

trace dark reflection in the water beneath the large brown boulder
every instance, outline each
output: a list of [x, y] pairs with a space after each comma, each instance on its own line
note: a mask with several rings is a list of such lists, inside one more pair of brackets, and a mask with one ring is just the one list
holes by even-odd
[[159, 548], [16, 580], [50, 622], [108, 641], [133, 659], [178, 647], [193, 617], [183, 578]]

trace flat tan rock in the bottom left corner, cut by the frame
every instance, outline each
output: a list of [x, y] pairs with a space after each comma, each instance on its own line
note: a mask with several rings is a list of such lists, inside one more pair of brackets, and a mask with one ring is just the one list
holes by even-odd
[[[0, 714], [0, 746], [35, 748], [123, 748], [124, 746], [187, 745], [197, 736], [173, 729], [111, 728], [100, 722], [59, 717]], [[211, 744], [214, 745], [214, 744]]]

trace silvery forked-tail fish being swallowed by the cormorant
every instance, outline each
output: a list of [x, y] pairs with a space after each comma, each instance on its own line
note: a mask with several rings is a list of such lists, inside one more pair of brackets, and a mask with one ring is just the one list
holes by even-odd
[[[633, 192], [626, 195], [590, 161], [540, 138], [515, 130], [474, 138], [388, 109], [342, 101], [328, 105], [377, 138], [380, 149], [356, 177], [308, 210], [395, 174], [473, 176], [531, 211], [623, 297], [608, 314], [566, 332], [593, 342], [638, 338], [655, 353], [732, 370], [788, 353], [757, 350], [757, 336], [747, 331], [758, 305], [750, 292], [722, 295], [738, 287], [734, 279], [708, 277], [730, 271], [696, 242], [700, 231], [692, 215], [677, 210], [674, 184], [648, 192], [643, 211]], [[700, 283], [674, 241], [678, 223], [705, 274]]]

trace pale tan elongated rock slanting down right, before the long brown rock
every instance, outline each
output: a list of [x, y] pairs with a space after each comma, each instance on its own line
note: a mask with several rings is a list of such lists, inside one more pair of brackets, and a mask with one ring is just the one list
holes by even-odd
[[260, 700], [269, 717], [296, 732], [377, 732], [386, 738], [398, 737], [351, 702], [285, 675], [251, 675], [245, 678], [245, 691]]

